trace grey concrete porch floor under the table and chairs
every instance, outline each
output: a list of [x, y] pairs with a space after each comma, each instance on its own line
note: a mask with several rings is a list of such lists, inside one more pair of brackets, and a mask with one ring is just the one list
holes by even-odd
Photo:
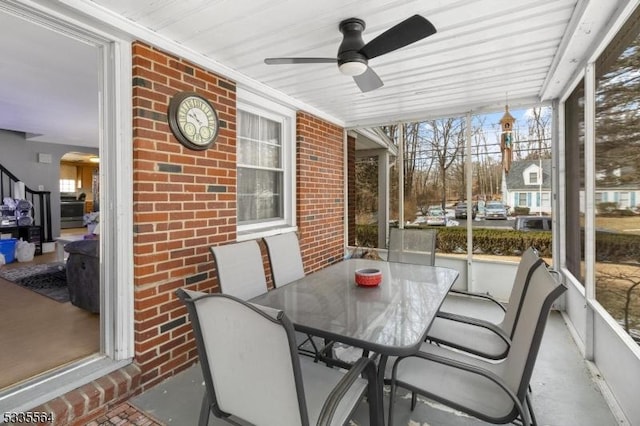
[[[598, 377], [582, 359], [562, 316], [552, 312], [531, 381], [533, 406], [539, 425], [621, 424], [607, 404], [597, 380]], [[200, 365], [196, 364], [132, 398], [129, 403], [166, 425], [196, 425], [203, 394], [202, 373]], [[385, 389], [385, 412], [388, 396], [388, 389]], [[395, 425], [486, 424], [420, 397], [413, 412], [409, 410], [409, 405], [409, 395], [398, 397]], [[226, 424], [213, 415], [209, 422], [209, 425]], [[356, 411], [351, 424], [369, 424], [364, 403]]]

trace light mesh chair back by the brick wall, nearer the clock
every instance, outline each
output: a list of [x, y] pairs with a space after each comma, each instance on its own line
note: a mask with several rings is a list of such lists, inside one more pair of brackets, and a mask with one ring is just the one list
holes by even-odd
[[220, 291], [249, 300], [267, 292], [260, 246], [255, 240], [211, 247]]

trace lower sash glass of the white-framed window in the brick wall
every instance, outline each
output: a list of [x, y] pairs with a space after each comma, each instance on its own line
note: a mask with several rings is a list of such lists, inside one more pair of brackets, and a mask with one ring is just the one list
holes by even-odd
[[238, 221], [283, 217], [282, 173], [238, 168]]

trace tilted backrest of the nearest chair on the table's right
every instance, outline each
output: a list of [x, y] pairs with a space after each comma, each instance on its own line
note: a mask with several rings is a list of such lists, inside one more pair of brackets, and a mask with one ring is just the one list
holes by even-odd
[[545, 263], [533, 269], [504, 361], [503, 379], [520, 401], [527, 393], [551, 305], [566, 289], [553, 278]]

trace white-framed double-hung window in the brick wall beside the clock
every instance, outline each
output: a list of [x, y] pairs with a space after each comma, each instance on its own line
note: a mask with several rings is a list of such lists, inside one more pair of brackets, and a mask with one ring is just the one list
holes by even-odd
[[248, 93], [238, 102], [239, 234], [295, 225], [293, 126], [291, 110]]

